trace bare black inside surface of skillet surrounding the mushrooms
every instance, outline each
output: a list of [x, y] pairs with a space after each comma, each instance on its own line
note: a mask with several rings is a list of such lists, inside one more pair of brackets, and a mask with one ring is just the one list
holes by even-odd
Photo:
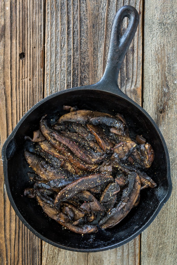
[[[24, 189], [32, 186], [27, 177], [27, 172], [32, 170], [23, 156], [24, 146], [27, 144], [24, 137], [32, 136], [33, 131], [39, 129], [39, 121], [44, 114], [53, 113], [51, 117], [64, 114], [65, 111], [62, 109], [64, 104], [77, 105], [79, 109], [123, 114], [128, 123], [130, 137], [135, 137], [136, 134], [143, 135], [152, 145], [155, 153], [154, 162], [146, 173], [158, 184], [158, 187], [142, 190], [138, 206], [132, 209], [117, 226], [105, 231], [99, 230], [98, 233], [91, 235], [81, 236], [62, 228], [60, 224], [44, 214], [36, 199], [23, 196]], [[69, 90], [39, 104], [20, 124], [14, 139], [7, 147], [6, 156], [10, 192], [22, 217], [37, 233], [52, 241], [56, 246], [73, 248], [73, 250], [93, 251], [95, 249], [98, 251], [133, 236], [152, 217], [159, 202], [163, 200], [168, 191], [167, 161], [158, 132], [137, 107], [110, 92], [86, 89]]]

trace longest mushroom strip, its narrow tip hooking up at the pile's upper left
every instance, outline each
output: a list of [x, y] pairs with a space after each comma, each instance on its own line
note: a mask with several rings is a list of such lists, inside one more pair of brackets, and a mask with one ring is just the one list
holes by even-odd
[[98, 167], [98, 165], [85, 164], [81, 160], [75, 158], [70, 153], [69, 149], [67, 149], [67, 147], [65, 147], [63, 144], [59, 143], [54, 137], [52, 137], [50, 133], [52, 133], [53, 131], [48, 127], [47, 121], [44, 119], [44, 117], [45, 116], [43, 116], [40, 121], [41, 133], [48, 140], [48, 142], [50, 142], [53, 145], [53, 147], [55, 147], [62, 155], [65, 156], [66, 160], [69, 160], [71, 164], [82, 170], [95, 170]]

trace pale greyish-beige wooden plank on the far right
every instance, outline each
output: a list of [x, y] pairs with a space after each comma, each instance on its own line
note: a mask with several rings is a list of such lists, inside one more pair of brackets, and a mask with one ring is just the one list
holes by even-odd
[[157, 218], [142, 233], [142, 265], [177, 264], [176, 10], [177, 1], [145, 1], [144, 108], [157, 122], [166, 140], [171, 161], [173, 191]]

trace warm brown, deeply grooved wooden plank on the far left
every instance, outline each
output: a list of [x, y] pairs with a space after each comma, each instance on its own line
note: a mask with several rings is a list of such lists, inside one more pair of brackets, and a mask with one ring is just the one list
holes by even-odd
[[43, 0], [0, 1], [0, 264], [41, 264], [41, 240], [7, 197], [1, 149], [16, 123], [42, 99]]

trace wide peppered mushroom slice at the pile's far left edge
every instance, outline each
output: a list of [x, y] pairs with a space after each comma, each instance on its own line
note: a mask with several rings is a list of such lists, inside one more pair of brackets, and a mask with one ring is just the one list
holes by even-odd
[[56, 167], [48, 164], [44, 158], [40, 158], [34, 153], [25, 151], [24, 157], [35, 173], [43, 179], [52, 180], [71, 176], [66, 170], [56, 169]]

